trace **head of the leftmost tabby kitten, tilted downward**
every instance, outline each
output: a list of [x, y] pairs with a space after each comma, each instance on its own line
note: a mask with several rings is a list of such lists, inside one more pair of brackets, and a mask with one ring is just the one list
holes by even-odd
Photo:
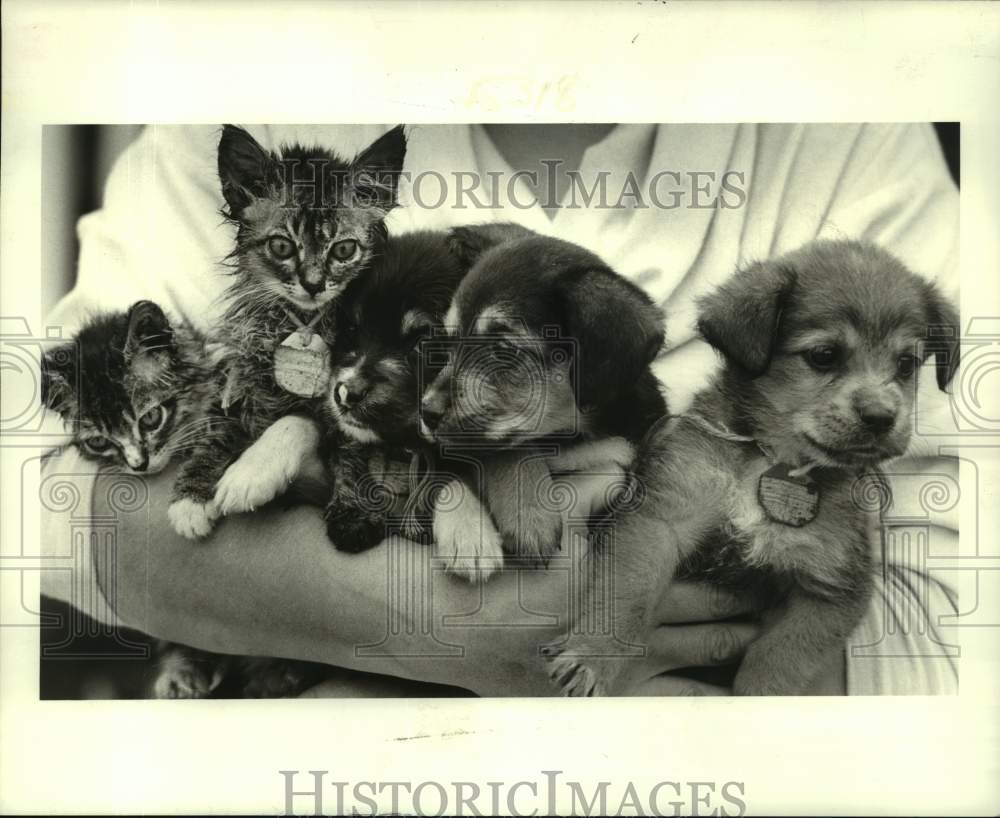
[[152, 301], [100, 315], [42, 361], [42, 401], [85, 457], [155, 474], [210, 432], [220, 384], [204, 339]]

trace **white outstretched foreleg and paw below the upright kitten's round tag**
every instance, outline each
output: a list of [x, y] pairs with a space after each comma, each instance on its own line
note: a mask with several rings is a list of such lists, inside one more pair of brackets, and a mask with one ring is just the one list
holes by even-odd
[[219, 513], [253, 511], [283, 494], [318, 443], [319, 431], [308, 418], [276, 420], [222, 475], [215, 488]]

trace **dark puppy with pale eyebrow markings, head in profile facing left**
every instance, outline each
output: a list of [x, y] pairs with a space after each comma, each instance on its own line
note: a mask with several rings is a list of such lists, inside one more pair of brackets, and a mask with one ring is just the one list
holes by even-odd
[[562, 517], [546, 502], [554, 453], [568, 468], [627, 467], [666, 413], [650, 369], [663, 315], [649, 297], [582, 247], [502, 227], [453, 231], [478, 255], [421, 404], [424, 435], [468, 463], [436, 506], [434, 539], [473, 581], [505, 553], [544, 562], [559, 547]]

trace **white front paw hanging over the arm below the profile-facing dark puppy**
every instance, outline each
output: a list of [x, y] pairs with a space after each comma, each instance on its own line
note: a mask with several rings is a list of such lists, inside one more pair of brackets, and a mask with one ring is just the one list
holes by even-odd
[[500, 533], [479, 498], [460, 481], [452, 480], [442, 496], [458, 499], [447, 506], [439, 500], [434, 507], [436, 554], [451, 573], [485, 582], [503, 568]]

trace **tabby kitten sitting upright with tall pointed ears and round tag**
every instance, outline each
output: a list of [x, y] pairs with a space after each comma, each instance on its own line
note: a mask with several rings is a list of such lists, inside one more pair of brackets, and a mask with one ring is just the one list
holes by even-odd
[[[223, 128], [219, 178], [223, 215], [236, 226], [229, 257], [235, 278], [218, 332], [231, 360], [214, 411], [239, 423], [196, 447], [184, 464], [169, 510], [178, 533], [211, 531], [220, 478], [271, 424], [319, 411], [335, 329], [331, 307], [384, 246], [405, 154], [402, 126], [351, 161], [318, 147], [270, 152], [242, 128]], [[251, 469], [243, 474], [234, 480], [254, 480]], [[253, 493], [244, 487], [228, 496]], [[226, 510], [249, 507], [228, 503]]]

